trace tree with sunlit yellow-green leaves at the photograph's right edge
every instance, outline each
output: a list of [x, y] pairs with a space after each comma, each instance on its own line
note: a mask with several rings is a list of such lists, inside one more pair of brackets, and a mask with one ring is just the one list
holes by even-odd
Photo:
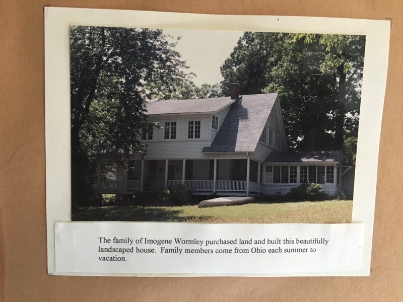
[[321, 48], [316, 65], [311, 66], [320, 71], [318, 85], [326, 77], [333, 77], [337, 82], [334, 141], [338, 146], [343, 145], [346, 133], [358, 134], [365, 36], [296, 34], [294, 41], [302, 38], [305, 44], [316, 43]]

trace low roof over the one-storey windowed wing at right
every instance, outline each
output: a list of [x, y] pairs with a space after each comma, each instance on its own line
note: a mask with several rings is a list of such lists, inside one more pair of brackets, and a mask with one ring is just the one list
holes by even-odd
[[265, 163], [341, 163], [342, 151], [272, 152]]

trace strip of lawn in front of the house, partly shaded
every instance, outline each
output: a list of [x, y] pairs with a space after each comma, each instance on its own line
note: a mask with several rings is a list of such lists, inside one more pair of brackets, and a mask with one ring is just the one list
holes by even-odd
[[194, 205], [78, 208], [74, 221], [182, 221], [216, 223], [351, 223], [352, 200], [251, 203], [197, 208]]

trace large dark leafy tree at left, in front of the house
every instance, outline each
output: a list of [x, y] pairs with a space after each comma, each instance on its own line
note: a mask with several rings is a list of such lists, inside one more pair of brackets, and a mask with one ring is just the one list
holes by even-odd
[[138, 140], [153, 82], [182, 81], [185, 62], [162, 30], [72, 26], [70, 30], [72, 200], [87, 200], [93, 151], [104, 139], [115, 153], [145, 154]]

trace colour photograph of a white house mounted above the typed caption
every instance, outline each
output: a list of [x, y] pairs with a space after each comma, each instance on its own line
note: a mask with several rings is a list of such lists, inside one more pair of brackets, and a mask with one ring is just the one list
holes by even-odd
[[72, 220], [351, 223], [365, 43], [70, 26]]

